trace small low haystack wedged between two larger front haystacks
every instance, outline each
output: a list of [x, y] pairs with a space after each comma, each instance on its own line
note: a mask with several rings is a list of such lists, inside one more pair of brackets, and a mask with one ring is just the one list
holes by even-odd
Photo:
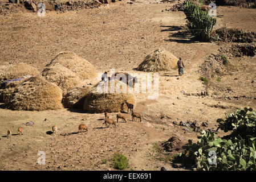
[[62, 100], [64, 107], [66, 108], [83, 107], [83, 102], [91, 87], [92, 86], [75, 87], [72, 90], [68, 91]]

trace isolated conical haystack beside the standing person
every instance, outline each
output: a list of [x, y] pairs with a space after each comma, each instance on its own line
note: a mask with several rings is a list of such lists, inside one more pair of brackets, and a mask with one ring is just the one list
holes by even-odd
[[137, 70], [144, 72], [171, 71], [177, 68], [177, 57], [167, 51], [157, 49], [145, 57]]

